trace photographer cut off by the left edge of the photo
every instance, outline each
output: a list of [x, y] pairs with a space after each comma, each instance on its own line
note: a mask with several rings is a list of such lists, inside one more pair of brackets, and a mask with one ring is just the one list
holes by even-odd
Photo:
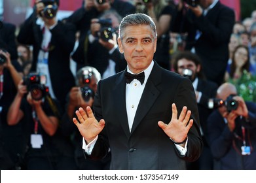
[[[11, 41], [9, 41], [11, 42]], [[2, 44], [1, 44], [2, 45]], [[14, 99], [22, 69], [16, 60], [10, 59], [6, 50], [0, 49], [0, 169], [20, 169], [25, 152], [22, 125], [9, 127], [7, 112]], [[13, 146], [13, 144], [17, 144]]]

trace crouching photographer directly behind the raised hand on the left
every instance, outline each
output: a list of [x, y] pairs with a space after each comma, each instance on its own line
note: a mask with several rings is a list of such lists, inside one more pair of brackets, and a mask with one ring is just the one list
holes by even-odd
[[110, 153], [106, 158], [99, 161], [84, 159], [81, 148], [82, 136], [77, 127], [71, 122], [75, 116], [75, 110], [79, 107], [92, 107], [99, 80], [101, 80], [100, 73], [94, 67], [86, 66], [79, 69], [77, 72], [77, 86], [71, 88], [69, 92], [67, 106], [62, 117], [62, 132], [68, 137], [67, 139], [72, 139], [71, 143], [75, 149], [75, 163], [77, 163], [78, 169], [81, 170], [109, 169]]

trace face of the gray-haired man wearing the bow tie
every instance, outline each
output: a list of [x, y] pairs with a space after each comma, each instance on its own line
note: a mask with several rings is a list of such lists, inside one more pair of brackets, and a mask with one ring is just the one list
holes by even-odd
[[119, 38], [119, 50], [132, 73], [140, 73], [149, 67], [156, 52], [156, 38], [149, 25], [133, 25], [123, 30]]

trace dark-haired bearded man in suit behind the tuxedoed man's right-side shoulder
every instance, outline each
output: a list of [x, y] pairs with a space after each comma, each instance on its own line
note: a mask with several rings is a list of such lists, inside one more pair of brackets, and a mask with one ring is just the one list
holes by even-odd
[[188, 77], [196, 93], [198, 105], [200, 129], [204, 141], [204, 150], [200, 158], [192, 163], [187, 163], [187, 169], [213, 169], [213, 157], [210, 146], [207, 142], [208, 130], [206, 121], [213, 108], [209, 107], [209, 101], [215, 97], [218, 85], [215, 82], [206, 80], [200, 58], [189, 51], [179, 52], [174, 58], [174, 71], [180, 75]]

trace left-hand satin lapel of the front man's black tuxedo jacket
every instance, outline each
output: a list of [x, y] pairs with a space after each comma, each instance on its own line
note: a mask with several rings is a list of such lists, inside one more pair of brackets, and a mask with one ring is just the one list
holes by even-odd
[[115, 96], [114, 102], [117, 107], [117, 121], [120, 122], [122, 129], [127, 138], [130, 137], [130, 129], [128, 125], [128, 118], [126, 112], [126, 81], [124, 73], [126, 70], [117, 78], [113, 95]]

